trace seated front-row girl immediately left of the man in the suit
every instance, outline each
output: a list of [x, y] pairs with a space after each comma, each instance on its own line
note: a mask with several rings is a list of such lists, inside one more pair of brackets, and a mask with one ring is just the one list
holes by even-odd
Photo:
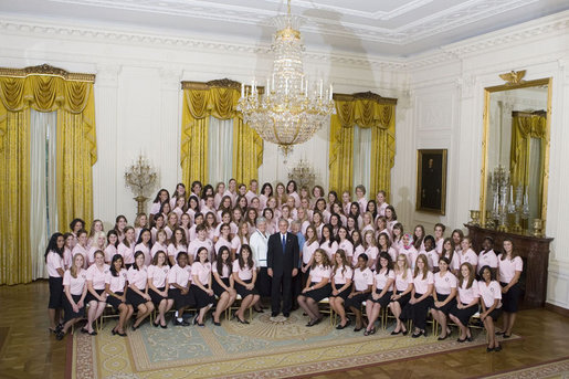
[[235, 318], [241, 324], [249, 324], [244, 319], [245, 310], [259, 302], [260, 297], [255, 288], [256, 267], [249, 245], [242, 245], [239, 257], [233, 261], [233, 280], [235, 281], [235, 289], [241, 296], [241, 306], [235, 312]]

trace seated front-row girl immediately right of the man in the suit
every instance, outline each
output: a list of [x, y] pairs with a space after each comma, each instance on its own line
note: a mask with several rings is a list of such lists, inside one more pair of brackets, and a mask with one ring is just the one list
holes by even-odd
[[298, 305], [310, 317], [308, 324], [306, 324], [308, 327], [318, 324], [323, 318], [318, 309], [318, 302], [328, 297], [331, 293], [330, 275], [331, 267], [328, 254], [323, 249], [316, 250], [310, 275], [306, 281], [306, 286], [297, 297]]

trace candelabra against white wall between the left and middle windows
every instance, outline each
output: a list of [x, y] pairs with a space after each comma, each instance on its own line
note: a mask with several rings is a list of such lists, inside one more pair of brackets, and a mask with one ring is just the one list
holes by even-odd
[[152, 190], [158, 173], [143, 154], [125, 171], [125, 182], [130, 187], [137, 202], [137, 214], [145, 213], [145, 204], [149, 191]]

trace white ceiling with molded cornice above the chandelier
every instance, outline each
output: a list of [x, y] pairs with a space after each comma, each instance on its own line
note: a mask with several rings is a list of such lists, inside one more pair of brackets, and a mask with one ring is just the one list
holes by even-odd
[[[568, 0], [293, 0], [318, 50], [410, 56], [569, 9]], [[268, 44], [284, 0], [0, 0], [0, 19], [32, 17], [85, 27]]]

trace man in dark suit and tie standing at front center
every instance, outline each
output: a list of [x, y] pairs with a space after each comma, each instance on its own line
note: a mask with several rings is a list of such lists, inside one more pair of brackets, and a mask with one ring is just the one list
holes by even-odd
[[293, 303], [292, 282], [298, 274], [298, 239], [287, 232], [288, 221], [278, 221], [278, 233], [268, 238], [267, 273], [272, 277], [271, 287], [271, 317], [281, 313], [281, 299], [283, 301], [283, 316], [291, 315]]

